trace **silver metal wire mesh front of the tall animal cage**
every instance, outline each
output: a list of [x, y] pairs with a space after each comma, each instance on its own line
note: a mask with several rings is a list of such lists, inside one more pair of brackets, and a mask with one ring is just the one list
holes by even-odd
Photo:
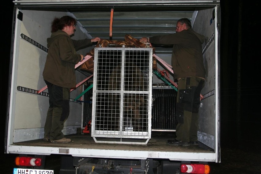
[[95, 48], [91, 135], [95, 142], [147, 144], [152, 48]]

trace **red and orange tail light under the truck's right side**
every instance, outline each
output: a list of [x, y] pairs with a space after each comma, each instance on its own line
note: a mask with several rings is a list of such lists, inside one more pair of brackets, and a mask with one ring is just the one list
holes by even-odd
[[195, 174], [209, 174], [210, 166], [206, 164], [181, 164], [180, 172], [195, 173]]

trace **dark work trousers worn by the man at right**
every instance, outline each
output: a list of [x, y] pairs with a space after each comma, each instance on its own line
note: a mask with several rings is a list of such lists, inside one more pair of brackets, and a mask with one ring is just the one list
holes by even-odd
[[176, 140], [198, 141], [200, 91], [205, 80], [198, 77], [180, 78], [176, 102]]

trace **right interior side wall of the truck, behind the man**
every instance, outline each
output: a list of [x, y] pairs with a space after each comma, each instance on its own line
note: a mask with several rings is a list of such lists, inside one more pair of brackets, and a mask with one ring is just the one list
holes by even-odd
[[[202, 47], [206, 46], [210, 41], [210, 38], [215, 33], [215, 22], [216, 18], [213, 18], [213, 10], [205, 9], [199, 10], [197, 17], [195, 18], [193, 30], [206, 37], [205, 43]], [[204, 20], [202, 20], [204, 19]], [[206, 20], [205, 20], [206, 19]], [[215, 38], [217, 39], [217, 38]], [[210, 148], [214, 149], [215, 146], [215, 129], [216, 117], [215, 117], [215, 95], [213, 90], [215, 89], [215, 42], [211, 42], [208, 45], [206, 51], [203, 53], [203, 62], [206, 70], [206, 80], [205, 86], [201, 91], [202, 95], [207, 95], [203, 100], [201, 100], [199, 108], [199, 134], [198, 139]]]

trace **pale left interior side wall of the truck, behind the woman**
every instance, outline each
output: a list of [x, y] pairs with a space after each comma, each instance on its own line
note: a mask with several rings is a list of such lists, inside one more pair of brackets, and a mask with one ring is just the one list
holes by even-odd
[[[69, 13], [54, 11], [20, 10], [20, 12], [22, 13], [22, 21], [19, 19], [16, 20], [16, 37], [19, 38], [22, 33], [46, 48], [46, 40], [47, 37], [51, 36], [51, 22], [54, 17], [70, 15]], [[72, 39], [78, 40], [85, 39], [86, 37], [86, 33], [83, 33], [76, 27], [76, 32], [74, 36], [72, 36]], [[17, 39], [15, 49], [19, 50], [17, 51], [19, 53], [14, 56], [13, 60], [13, 74], [15, 77], [12, 81], [13, 91], [11, 93], [12, 102], [16, 104], [13, 104], [12, 106], [15, 107], [11, 108], [11, 112], [15, 112], [15, 117], [12, 118], [14, 122], [11, 122], [14, 124], [9, 127], [9, 129], [14, 128], [14, 132], [9, 131], [11, 134], [13, 133], [13, 136], [10, 137], [14, 138], [13, 142], [43, 138], [49, 99], [47, 96], [17, 91], [17, 86], [34, 90], [40, 90], [46, 86], [42, 73], [47, 52], [23, 38]], [[90, 48], [78, 52], [79, 54], [85, 55], [89, 50]], [[86, 78], [85, 75], [78, 71], [76, 71], [76, 76], [77, 83]], [[48, 89], [44, 90], [44, 92], [48, 93]], [[76, 98], [81, 92], [82, 87], [73, 90], [70, 98]], [[70, 111], [70, 115], [64, 123], [64, 134], [76, 133], [76, 128], [81, 126], [81, 104], [70, 102]]]

